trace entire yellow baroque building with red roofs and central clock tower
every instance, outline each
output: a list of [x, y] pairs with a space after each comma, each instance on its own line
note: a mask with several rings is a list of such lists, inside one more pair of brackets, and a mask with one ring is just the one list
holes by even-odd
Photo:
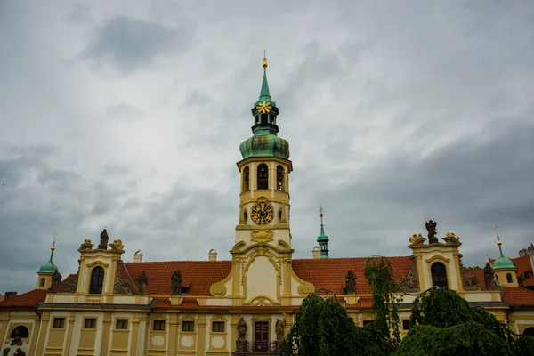
[[[231, 261], [218, 261], [211, 250], [207, 261], [143, 262], [138, 251], [134, 262], [125, 263], [123, 242], [110, 242], [104, 230], [98, 246], [81, 241], [76, 274], [61, 278], [51, 255], [37, 272], [36, 289], [0, 303], [2, 350], [9, 349], [4, 354], [275, 354], [303, 298], [319, 288], [336, 293], [356, 324], [372, 320], [367, 258], [328, 258], [322, 214], [313, 258], [293, 258], [293, 166], [288, 143], [278, 137], [279, 109], [266, 67], [264, 59], [262, 91], [252, 109], [254, 135], [239, 147], [243, 159]], [[449, 287], [516, 333], [534, 332], [534, 292], [518, 285], [514, 263], [502, 250], [493, 266], [465, 268], [460, 239], [448, 232], [440, 241], [428, 226], [428, 240], [422, 234], [409, 237], [412, 255], [389, 258], [401, 288], [417, 294]], [[401, 304], [402, 335], [414, 298], [405, 295]]]

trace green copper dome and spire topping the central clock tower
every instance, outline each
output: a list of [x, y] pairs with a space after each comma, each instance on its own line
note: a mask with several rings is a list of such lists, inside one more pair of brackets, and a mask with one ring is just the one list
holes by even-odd
[[255, 125], [252, 126], [254, 136], [239, 145], [243, 159], [249, 157], [278, 157], [289, 159], [289, 143], [278, 137], [276, 119], [279, 109], [271, 99], [267, 83], [267, 59], [263, 58], [263, 82], [260, 98], [252, 108]]

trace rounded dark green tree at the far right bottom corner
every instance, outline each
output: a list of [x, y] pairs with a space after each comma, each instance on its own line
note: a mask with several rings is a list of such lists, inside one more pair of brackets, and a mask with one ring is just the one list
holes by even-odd
[[433, 288], [414, 301], [408, 336], [395, 355], [534, 354], [534, 343], [511, 334], [490, 312], [471, 308], [449, 288]]

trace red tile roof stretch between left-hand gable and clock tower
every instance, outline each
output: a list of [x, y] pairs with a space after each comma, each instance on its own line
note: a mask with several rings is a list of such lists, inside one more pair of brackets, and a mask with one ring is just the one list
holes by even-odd
[[149, 279], [149, 295], [171, 295], [171, 276], [176, 270], [182, 273], [182, 287], [189, 287], [188, 295], [210, 295], [209, 287], [225, 279], [231, 270], [231, 261], [169, 261], [125, 263], [130, 279], [139, 288], [136, 279], [144, 271]]

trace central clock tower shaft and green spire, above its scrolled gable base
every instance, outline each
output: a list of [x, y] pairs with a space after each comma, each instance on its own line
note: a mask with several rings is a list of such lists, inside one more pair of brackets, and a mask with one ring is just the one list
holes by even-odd
[[[265, 53], [265, 51], [263, 52]], [[239, 223], [236, 243], [291, 246], [289, 231], [289, 144], [278, 136], [279, 109], [267, 83], [267, 58], [263, 57], [260, 97], [252, 108], [253, 136], [241, 142]]]

